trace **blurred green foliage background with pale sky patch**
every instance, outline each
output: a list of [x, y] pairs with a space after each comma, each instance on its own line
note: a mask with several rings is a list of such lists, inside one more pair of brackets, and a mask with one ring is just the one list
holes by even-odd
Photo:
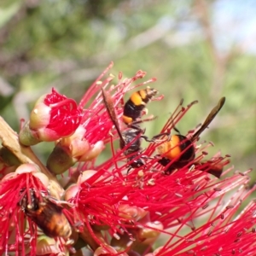
[[[226, 96], [201, 138], [212, 154], [231, 154], [235, 170], [255, 168], [255, 13], [249, 0], [1, 0], [0, 114], [19, 131], [38, 96], [55, 87], [79, 102], [113, 61], [115, 75], [157, 78], [165, 98], [148, 104], [159, 117], [149, 137], [181, 98], [199, 100], [177, 125], [186, 134]], [[50, 148], [37, 150], [44, 159]]]

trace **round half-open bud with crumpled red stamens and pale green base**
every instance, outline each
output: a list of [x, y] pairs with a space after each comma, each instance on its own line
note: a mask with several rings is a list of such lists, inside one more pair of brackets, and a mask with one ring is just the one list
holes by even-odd
[[54, 88], [41, 96], [32, 109], [29, 122], [20, 131], [20, 143], [30, 146], [71, 136], [81, 121], [81, 111], [73, 99], [61, 96]]

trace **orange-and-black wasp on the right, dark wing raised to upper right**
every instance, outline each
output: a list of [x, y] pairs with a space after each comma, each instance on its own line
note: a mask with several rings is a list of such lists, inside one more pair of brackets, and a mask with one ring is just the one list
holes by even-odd
[[[199, 138], [201, 132], [204, 131], [208, 125], [210, 125], [212, 119], [215, 118], [219, 110], [223, 107], [224, 102], [225, 97], [222, 97], [219, 100], [218, 105], [212, 108], [211, 113], [208, 114], [207, 119], [204, 121], [203, 125], [201, 125], [201, 128], [196, 131], [192, 137], [185, 137], [181, 134], [175, 134], [169, 136], [165, 143], [160, 144], [158, 147], [158, 152], [159, 154], [164, 154], [164, 157], [162, 157], [158, 162], [162, 166], [167, 166], [172, 160], [174, 160], [171, 166], [167, 167], [166, 173], [172, 173], [176, 168], [182, 168], [183, 166], [186, 166], [189, 161], [195, 159], [195, 141]], [[177, 131], [176, 128], [174, 128], [174, 130]], [[177, 132], [179, 133], [179, 131]], [[211, 173], [215, 177], [220, 177], [222, 167], [216, 166], [215, 169], [210, 169], [207, 172]]]

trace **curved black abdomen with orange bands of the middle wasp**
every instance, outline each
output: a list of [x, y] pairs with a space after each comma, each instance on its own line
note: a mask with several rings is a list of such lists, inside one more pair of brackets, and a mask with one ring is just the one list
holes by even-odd
[[147, 112], [146, 104], [158, 93], [157, 90], [147, 87], [134, 92], [130, 99], [125, 102], [123, 122], [126, 125], [135, 123], [142, 116], [143, 110]]

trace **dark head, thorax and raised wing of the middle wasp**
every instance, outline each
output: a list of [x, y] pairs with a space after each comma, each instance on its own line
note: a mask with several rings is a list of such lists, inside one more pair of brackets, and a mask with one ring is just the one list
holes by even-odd
[[[143, 91], [143, 90], [140, 90], [140, 91]], [[141, 92], [141, 94], [143, 94], [143, 93]], [[145, 162], [144, 162], [143, 158], [138, 157], [138, 154], [140, 154], [141, 150], [142, 150], [142, 148], [141, 148], [141, 143], [142, 143], [141, 138], [143, 138], [147, 142], [152, 142], [152, 140], [149, 140], [148, 137], [143, 135], [145, 130], [142, 130], [137, 125], [132, 125], [132, 122], [131, 122], [131, 125], [129, 125], [128, 129], [121, 132], [120, 128], [119, 128], [118, 119], [117, 119], [116, 114], [114, 112], [113, 100], [112, 100], [111, 96], [103, 89], [102, 89], [102, 96], [103, 96], [105, 106], [108, 110], [108, 114], [110, 116], [110, 119], [113, 121], [113, 125], [115, 126], [116, 131], [119, 135], [119, 138], [120, 138], [119, 146], [120, 146], [121, 149], [125, 148], [124, 154], [127, 157], [127, 161], [131, 162], [131, 164], [130, 164], [131, 168], [137, 168], [137, 167], [145, 165]], [[134, 97], [137, 97], [137, 96], [134, 96]], [[131, 98], [130, 98], [129, 101], [131, 101]], [[126, 104], [125, 104], [125, 106], [126, 106]], [[135, 104], [133, 104], [133, 106], [135, 106]], [[130, 116], [132, 116], [131, 119], [135, 120], [135, 119], [137, 119], [137, 116], [140, 116], [140, 111], [137, 111], [136, 114], [131, 114], [131, 109], [132, 108], [129, 107], [128, 113], [130, 114]], [[124, 113], [127, 114], [127, 111], [124, 112]], [[124, 116], [123, 116], [123, 118], [124, 118]]]

